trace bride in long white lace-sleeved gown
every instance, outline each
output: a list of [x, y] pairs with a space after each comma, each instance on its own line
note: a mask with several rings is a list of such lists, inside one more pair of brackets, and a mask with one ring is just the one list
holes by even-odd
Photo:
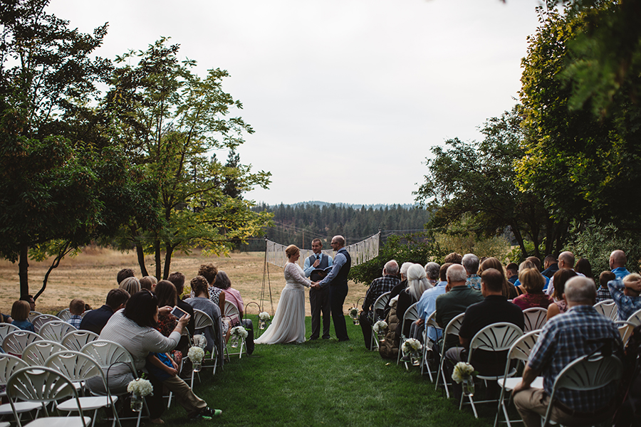
[[296, 264], [301, 251], [295, 245], [290, 245], [285, 254], [288, 260], [285, 264], [286, 285], [271, 325], [256, 339], [256, 344], [305, 341], [305, 288], [309, 288], [311, 281]]

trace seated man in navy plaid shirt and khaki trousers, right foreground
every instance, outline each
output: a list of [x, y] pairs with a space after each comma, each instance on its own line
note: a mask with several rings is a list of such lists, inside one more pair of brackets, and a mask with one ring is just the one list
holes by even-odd
[[[615, 354], [622, 351], [617, 327], [592, 306], [596, 297], [593, 280], [571, 278], [565, 291], [568, 312], [553, 317], [543, 327], [523, 371], [523, 380], [513, 391], [514, 404], [527, 427], [541, 426], [541, 416], [545, 416], [550, 403], [554, 380], [570, 362], [604, 345]], [[543, 389], [532, 389], [530, 384], [541, 374]], [[551, 419], [569, 426], [586, 423], [591, 426], [605, 421], [612, 416], [616, 387], [612, 382], [588, 391], [558, 389]]]

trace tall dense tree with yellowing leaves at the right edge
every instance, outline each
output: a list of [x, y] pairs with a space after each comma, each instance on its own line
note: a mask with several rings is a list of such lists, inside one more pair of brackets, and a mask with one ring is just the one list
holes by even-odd
[[[593, 115], [590, 102], [570, 110], [573, 89], [562, 75], [581, 58], [568, 46], [588, 27], [592, 9], [539, 9], [541, 25], [529, 39], [523, 58], [521, 102], [528, 131], [525, 153], [517, 164], [521, 190], [538, 195], [555, 218], [587, 218], [638, 227], [641, 208], [641, 110], [627, 96], [606, 117]], [[638, 76], [636, 76], [638, 78]], [[622, 85], [633, 85], [629, 77]], [[610, 105], [611, 106], [611, 105]]]

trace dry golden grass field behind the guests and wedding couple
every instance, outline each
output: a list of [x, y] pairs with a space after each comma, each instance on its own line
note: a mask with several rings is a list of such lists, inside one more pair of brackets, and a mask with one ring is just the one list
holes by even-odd
[[[245, 304], [254, 301], [261, 305], [261, 293], [264, 277], [263, 252], [232, 253], [229, 257], [202, 256], [199, 252], [191, 255], [174, 255], [172, 271], [182, 271], [187, 282], [193, 278], [202, 263], [212, 262], [219, 270], [224, 270], [231, 279], [231, 285], [243, 295]], [[152, 256], [145, 258], [150, 274], [155, 271]], [[43, 261], [29, 263], [29, 289], [32, 295], [40, 290], [44, 275], [51, 265]], [[62, 260], [60, 266], [49, 275], [47, 288], [36, 301], [36, 310], [40, 312], [58, 312], [69, 306], [75, 298], [82, 298], [91, 307], [100, 307], [105, 303], [107, 292], [117, 286], [116, 273], [121, 268], [133, 268], [140, 278], [140, 268], [134, 252], [121, 253], [108, 248], [85, 248], [83, 253]], [[265, 278], [264, 297], [261, 307], [270, 312], [276, 311], [281, 290], [285, 285], [283, 272], [276, 265], [268, 265], [269, 280]], [[271, 285], [271, 300], [270, 300]], [[350, 291], [345, 299], [345, 310], [354, 305], [358, 298], [365, 295], [367, 288], [350, 282]], [[0, 261], [0, 311], [11, 312], [11, 304], [20, 296], [18, 264]], [[271, 302], [273, 301], [273, 310]], [[309, 300], [306, 301], [307, 315], [310, 315]], [[248, 312], [254, 313], [255, 306]]]

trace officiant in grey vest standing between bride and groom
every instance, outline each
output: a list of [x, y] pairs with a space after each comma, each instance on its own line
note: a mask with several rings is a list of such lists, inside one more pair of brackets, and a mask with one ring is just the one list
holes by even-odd
[[[332, 257], [322, 253], [323, 242], [320, 238], [312, 241], [313, 254], [305, 258], [303, 263], [303, 272], [305, 277], [310, 278], [313, 282], [323, 280], [332, 267]], [[330, 299], [329, 286], [323, 286], [320, 289], [311, 288], [309, 290], [309, 305], [311, 306], [312, 315], [312, 334], [309, 339], [318, 339], [320, 335], [320, 313], [323, 313], [323, 339], [329, 339], [330, 326]]]

